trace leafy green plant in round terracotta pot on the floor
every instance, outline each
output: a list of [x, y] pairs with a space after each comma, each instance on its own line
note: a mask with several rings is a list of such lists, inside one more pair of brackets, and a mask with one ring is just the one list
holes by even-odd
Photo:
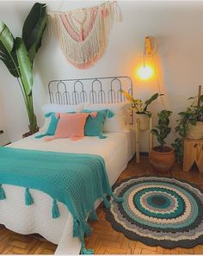
[[174, 149], [165, 146], [165, 139], [171, 132], [169, 127], [169, 116], [172, 112], [169, 110], [160, 111], [158, 116], [158, 124], [156, 128], [151, 129], [151, 134], [157, 137], [159, 146], [153, 147], [150, 153], [151, 165], [158, 172], [168, 172], [175, 163]]

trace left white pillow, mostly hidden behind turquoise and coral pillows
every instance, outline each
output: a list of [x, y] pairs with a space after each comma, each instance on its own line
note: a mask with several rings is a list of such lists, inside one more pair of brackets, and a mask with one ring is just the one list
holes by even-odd
[[[44, 114], [49, 112], [54, 113], [65, 113], [65, 112], [81, 112], [83, 111], [84, 103], [77, 105], [59, 105], [59, 104], [45, 104], [41, 107]], [[40, 128], [40, 132], [46, 132], [49, 127], [51, 117], [45, 117], [45, 122], [43, 126]]]

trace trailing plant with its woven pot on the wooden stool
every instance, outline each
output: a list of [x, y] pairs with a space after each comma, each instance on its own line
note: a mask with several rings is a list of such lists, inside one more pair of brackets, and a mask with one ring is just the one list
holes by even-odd
[[203, 95], [199, 93], [198, 97], [189, 97], [188, 100], [193, 100], [193, 102], [190, 103], [186, 111], [178, 113], [180, 118], [176, 120], [178, 125], [175, 127], [175, 133], [178, 133], [179, 137], [172, 144], [175, 148], [176, 160], [179, 163], [183, 159], [184, 139], [203, 139]]

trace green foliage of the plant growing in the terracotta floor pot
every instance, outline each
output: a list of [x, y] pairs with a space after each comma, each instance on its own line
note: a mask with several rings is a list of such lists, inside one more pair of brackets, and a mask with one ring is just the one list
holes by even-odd
[[151, 134], [157, 137], [157, 141], [159, 143], [159, 147], [156, 147], [156, 151], [160, 152], [169, 152], [169, 147], [165, 147], [166, 137], [171, 132], [171, 128], [169, 127], [169, 116], [171, 116], [172, 111], [162, 110], [160, 111], [158, 116], [158, 124], [156, 128], [151, 129]]

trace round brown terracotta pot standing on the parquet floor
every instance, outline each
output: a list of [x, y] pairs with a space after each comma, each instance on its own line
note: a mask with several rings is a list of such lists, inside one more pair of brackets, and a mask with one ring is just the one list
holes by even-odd
[[175, 151], [169, 148], [169, 152], [158, 152], [158, 147], [153, 147], [150, 153], [151, 165], [158, 172], [168, 172], [175, 163]]

